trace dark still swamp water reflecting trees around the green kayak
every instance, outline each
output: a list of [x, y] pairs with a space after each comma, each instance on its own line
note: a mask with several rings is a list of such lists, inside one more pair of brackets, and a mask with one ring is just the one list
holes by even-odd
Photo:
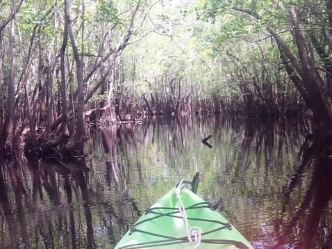
[[84, 158], [1, 159], [0, 248], [113, 248], [197, 171], [198, 194], [221, 200], [256, 248], [332, 248], [332, 163], [300, 153], [307, 131], [299, 120], [156, 118], [91, 130]]

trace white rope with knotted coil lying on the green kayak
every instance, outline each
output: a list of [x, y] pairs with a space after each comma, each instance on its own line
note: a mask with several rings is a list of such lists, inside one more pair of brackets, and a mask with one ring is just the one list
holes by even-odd
[[185, 183], [184, 183], [184, 180], [181, 180], [181, 182], [175, 188], [174, 192], [175, 192], [176, 198], [178, 199], [179, 204], [180, 204], [179, 211], [183, 218], [183, 223], [185, 225], [185, 231], [187, 232], [188, 241], [192, 244], [192, 236], [193, 236], [195, 245], [191, 246], [191, 247], [185, 247], [182, 245], [181, 246], [186, 249], [187, 248], [195, 249], [195, 248], [198, 248], [199, 245], [201, 244], [202, 230], [200, 227], [190, 227], [190, 225], [188, 223], [187, 211], [185, 211], [185, 205], [183, 204], [182, 199], [181, 199], [181, 190], [182, 190], [183, 186], [185, 186]]

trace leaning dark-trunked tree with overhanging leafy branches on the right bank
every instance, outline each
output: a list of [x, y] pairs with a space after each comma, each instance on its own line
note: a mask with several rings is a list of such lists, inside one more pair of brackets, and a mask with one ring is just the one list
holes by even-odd
[[[306, 105], [313, 111], [315, 132], [332, 137], [331, 1], [204, 1], [206, 20], [240, 16], [244, 24], [267, 31], [280, 51], [281, 63]], [[317, 8], [319, 7], [319, 8]], [[199, 10], [199, 9], [197, 9]], [[265, 39], [269, 38], [265, 37]], [[292, 38], [292, 39], [291, 39]], [[294, 42], [292, 42], [292, 40]]]

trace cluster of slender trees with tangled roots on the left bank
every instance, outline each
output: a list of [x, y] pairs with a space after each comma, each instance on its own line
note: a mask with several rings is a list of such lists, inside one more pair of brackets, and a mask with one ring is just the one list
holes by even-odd
[[[70, 155], [87, 139], [91, 113], [117, 122], [115, 61], [151, 32], [142, 24], [158, 1], [11, 2], [11, 9], [0, 2], [0, 12], [10, 13], [0, 19], [0, 100], [8, 106], [1, 109], [2, 145], [13, 152], [25, 142], [29, 154]], [[98, 95], [108, 97], [91, 104]]]

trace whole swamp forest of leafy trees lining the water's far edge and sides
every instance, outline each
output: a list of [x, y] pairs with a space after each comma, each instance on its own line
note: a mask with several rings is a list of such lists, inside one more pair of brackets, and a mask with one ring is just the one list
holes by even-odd
[[151, 115], [305, 116], [314, 152], [332, 154], [332, 0], [0, 0], [0, 13], [3, 155], [80, 154], [89, 127]]

